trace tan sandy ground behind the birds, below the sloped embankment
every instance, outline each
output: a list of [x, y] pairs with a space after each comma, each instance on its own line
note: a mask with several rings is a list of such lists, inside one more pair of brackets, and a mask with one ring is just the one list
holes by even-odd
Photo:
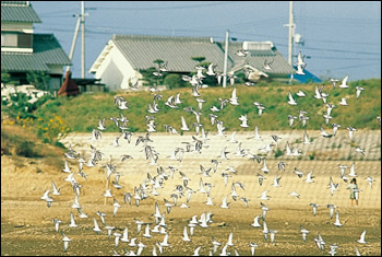
[[[106, 163], [107, 160], [104, 161]], [[255, 255], [329, 255], [330, 245], [337, 244], [337, 255], [355, 255], [357, 246], [361, 255], [381, 255], [381, 162], [380, 161], [356, 161], [356, 173], [358, 175], [358, 186], [362, 189], [358, 207], [350, 207], [349, 191], [346, 189], [347, 183], [339, 178], [338, 164], [350, 166], [353, 161], [297, 161], [288, 160], [285, 172], [278, 172], [276, 166], [280, 160], [270, 160], [268, 167], [271, 173], [266, 176], [263, 185], [260, 186], [256, 174], [262, 173], [262, 164], [252, 162], [248, 159], [222, 160], [216, 173], [211, 173], [211, 177], [202, 177], [203, 183], [211, 183], [211, 197], [215, 206], [206, 206], [205, 194], [195, 192], [192, 195], [189, 209], [180, 208], [180, 203], [186, 202], [186, 198], [178, 199], [177, 207], [172, 207], [170, 213], [166, 213], [165, 220], [167, 232], [169, 234], [169, 247], [164, 247], [163, 254], [157, 249], [158, 255], [192, 255], [198, 246], [201, 246], [200, 255], [208, 255], [212, 250], [212, 237], [222, 243], [214, 255], [222, 252], [223, 245], [228, 241], [230, 232], [234, 233], [234, 246], [228, 246], [227, 252], [235, 255], [237, 250], [240, 255], [251, 255], [249, 243], [259, 245]], [[200, 184], [200, 164], [206, 168], [212, 167], [210, 156], [206, 160], [184, 159], [181, 163], [174, 160], [162, 159], [160, 165], [169, 174], [167, 166], [172, 165], [178, 168], [174, 177], [164, 182], [163, 188], [157, 189], [158, 196], [153, 196], [151, 185], [148, 184], [147, 173], [152, 177], [157, 175], [157, 167], [148, 165], [145, 160], [130, 160], [130, 164], [124, 164], [120, 172], [121, 189], [112, 187], [111, 183], [106, 184], [105, 168], [100, 165], [96, 167], [85, 167], [84, 172], [88, 175], [87, 180], [79, 176], [75, 161], [70, 161], [70, 166], [75, 172], [76, 180], [82, 185], [80, 194], [80, 205], [83, 211], [88, 215], [87, 219], [79, 218], [79, 212], [71, 208], [74, 201], [74, 195], [70, 183], [63, 179], [68, 176], [58, 168], [44, 164], [44, 160], [19, 161], [17, 165], [10, 156], [1, 156], [1, 255], [112, 255], [116, 250], [119, 254], [133, 250], [138, 247], [128, 246], [128, 243], [119, 242], [115, 247], [115, 236], [108, 238], [105, 225], [100, 223], [99, 217], [95, 213], [102, 211], [107, 213], [106, 225], [112, 225], [116, 231], [122, 233], [128, 226], [129, 238], [136, 237], [136, 242], [142, 242], [146, 247], [141, 255], [152, 255], [155, 243], [162, 242], [163, 234], [152, 233], [152, 238], [143, 236], [143, 232], [138, 234], [134, 219], [151, 223], [154, 227], [155, 212], [154, 203], [158, 202], [160, 212], [165, 212], [164, 199], [170, 202], [170, 195], [177, 185], [182, 184], [179, 171], [183, 171], [190, 178], [189, 187], [199, 189]], [[23, 166], [22, 166], [23, 165]], [[223, 172], [228, 166], [235, 166], [237, 175], [231, 174], [227, 186], [224, 185]], [[129, 172], [129, 166], [134, 166], [134, 172]], [[293, 173], [297, 167], [305, 172], [305, 176], [299, 178]], [[62, 167], [63, 168], [63, 167]], [[140, 172], [141, 171], [141, 172]], [[193, 172], [192, 172], [193, 171]], [[308, 184], [303, 180], [308, 172], [313, 171], [314, 183]], [[347, 170], [348, 172], [348, 170]], [[264, 175], [264, 174], [263, 174]], [[273, 187], [273, 178], [280, 176], [280, 186]], [[365, 179], [371, 176], [375, 179], [370, 188]], [[334, 183], [338, 183], [338, 191], [332, 196], [327, 189], [330, 177]], [[115, 175], [111, 175], [112, 180]], [[139, 187], [146, 178], [148, 186], [147, 199], [142, 200], [136, 207], [134, 200], [132, 205], [123, 202], [123, 192], [133, 194], [133, 188]], [[47, 207], [44, 200], [40, 200], [44, 191], [51, 190], [51, 182], [61, 188], [60, 196], [50, 196], [53, 198], [52, 206]], [[110, 180], [110, 182], [111, 182]], [[236, 201], [229, 195], [234, 182], [241, 182], [244, 190], [236, 186], [237, 194], [240, 197], [250, 199], [247, 208], [242, 200]], [[103, 194], [105, 189], [111, 188], [111, 192], [118, 202], [119, 208], [116, 217], [112, 217], [112, 199], [105, 200]], [[265, 190], [268, 190], [270, 200], [261, 200], [259, 197]], [[300, 194], [300, 198], [289, 196], [295, 190]], [[225, 196], [228, 196], [230, 209], [222, 209], [219, 205]], [[240, 198], [239, 197], [239, 198]], [[261, 205], [263, 202], [268, 207], [266, 213], [266, 224], [268, 229], [276, 230], [275, 242], [270, 238], [264, 240], [262, 227], [252, 227], [254, 217], [262, 215]], [[312, 213], [311, 202], [320, 205], [317, 215]], [[334, 218], [330, 219], [326, 205], [337, 206], [341, 214], [342, 227], [333, 225]], [[191, 242], [181, 240], [183, 227], [192, 215], [212, 212], [213, 223], [203, 229], [196, 226]], [[70, 227], [70, 213], [79, 227]], [[96, 218], [100, 229], [97, 235], [94, 227], [93, 218]], [[62, 221], [59, 232], [55, 231], [52, 220]], [[260, 222], [263, 223], [262, 221]], [[307, 242], [302, 242], [300, 225], [303, 225], [310, 233]], [[367, 231], [367, 244], [357, 243], [360, 234]], [[62, 235], [60, 231], [71, 238], [69, 249], [63, 252]], [[144, 231], [144, 226], [143, 226]], [[326, 246], [320, 250], [315, 245], [314, 238], [321, 234]]]

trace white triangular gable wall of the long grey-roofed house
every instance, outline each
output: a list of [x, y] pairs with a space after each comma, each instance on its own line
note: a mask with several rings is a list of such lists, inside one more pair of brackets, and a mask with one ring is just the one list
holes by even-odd
[[[99, 62], [99, 66], [92, 68], [91, 71], [95, 70], [95, 78], [100, 79], [100, 83], [104, 83], [109, 91], [128, 89], [129, 80], [131, 79], [132, 82], [135, 82], [138, 78], [141, 78], [141, 74], [132, 68], [111, 40], [108, 45], [112, 46], [109, 54], [104, 55], [105, 59], [103, 60], [97, 59], [96, 62]], [[104, 48], [100, 56], [105, 51], [107, 51], [106, 48]]]

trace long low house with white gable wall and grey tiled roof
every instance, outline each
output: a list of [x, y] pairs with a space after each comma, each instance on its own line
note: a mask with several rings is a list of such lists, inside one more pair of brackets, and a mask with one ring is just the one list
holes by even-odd
[[[140, 70], [157, 68], [156, 60], [168, 63], [171, 73], [190, 73], [195, 71], [195, 57], [204, 57], [204, 61], [213, 62], [216, 70], [224, 70], [224, 43], [212, 37], [172, 37], [147, 35], [114, 35], [104, 47], [89, 72], [106, 84], [110, 91], [129, 89], [129, 81], [143, 79]], [[235, 55], [244, 49], [248, 55]], [[244, 67], [259, 73], [264, 72], [264, 61], [274, 60], [271, 71], [266, 71], [271, 80], [288, 81], [288, 74], [295, 70], [277, 51], [271, 42], [231, 42], [228, 47], [228, 73], [242, 71]], [[260, 72], [261, 73], [261, 72]], [[261, 77], [254, 77], [260, 80]], [[142, 83], [140, 82], [140, 85]]]

